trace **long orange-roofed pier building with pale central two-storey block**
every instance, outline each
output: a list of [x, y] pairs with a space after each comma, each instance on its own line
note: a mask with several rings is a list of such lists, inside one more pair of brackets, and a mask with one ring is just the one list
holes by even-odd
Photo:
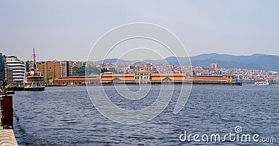
[[241, 82], [232, 82], [232, 75], [227, 76], [187, 76], [186, 73], [151, 73], [137, 71], [136, 73], [113, 74], [102, 73], [101, 84], [215, 84], [215, 85], [242, 85]]

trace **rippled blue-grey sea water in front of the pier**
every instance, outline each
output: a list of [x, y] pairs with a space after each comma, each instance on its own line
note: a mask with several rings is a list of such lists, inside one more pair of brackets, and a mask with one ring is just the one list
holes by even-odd
[[[146, 105], [156, 99], [159, 87], [152, 87], [154, 92], [145, 100]], [[137, 88], [135, 85], [129, 87], [131, 90]], [[137, 102], [131, 101], [121, 104], [114, 87], [107, 86], [105, 90], [121, 108], [144, 105], [137, 106]], [[44, 92], [16, 92], [13, 95], [15, 137], [19, 145], [279, 144], [279, 87], [194, 85], [183, 110], [174, 115], [176, 100], [172, 98], [167, 108], [149, 122], [125, 125], [101, 115], [91, 103], [86, 87], [46, 87]], [[259, 141], [276, 138], [276, 143], [232, 143], [228, 139], [221, 143], [199, 143], [193, 138], [182, 143], [179, 140], [185, 131], [188, 135], [199, 136], [236, 134], [236, 126], [241, 126], [240, 134], [258, 134]]]

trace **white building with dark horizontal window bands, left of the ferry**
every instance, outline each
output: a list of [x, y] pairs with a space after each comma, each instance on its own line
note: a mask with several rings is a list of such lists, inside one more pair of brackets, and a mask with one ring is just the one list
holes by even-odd
[[13, 81], [23, 82], [25, 70], [25, 62], [17, 59], [15, 56], [7, 57], [8, 68], [13, 70]]

